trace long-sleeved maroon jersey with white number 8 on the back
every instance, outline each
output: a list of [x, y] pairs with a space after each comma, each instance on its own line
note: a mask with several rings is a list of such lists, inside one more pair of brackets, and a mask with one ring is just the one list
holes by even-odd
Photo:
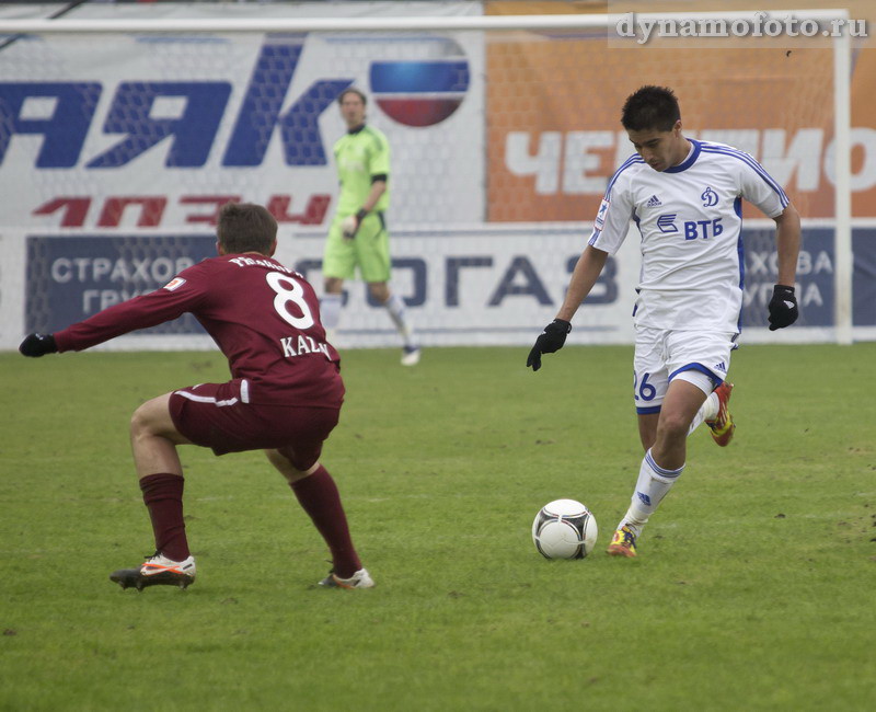
[[149, 295], [110, 307], [55, 334], [58, 351], [81, 351], [191, 312], [245, 379], [251, 403], [338, 407], [341, 358], [325, 341], [313, 287], [255, 253], [205, 260]]

